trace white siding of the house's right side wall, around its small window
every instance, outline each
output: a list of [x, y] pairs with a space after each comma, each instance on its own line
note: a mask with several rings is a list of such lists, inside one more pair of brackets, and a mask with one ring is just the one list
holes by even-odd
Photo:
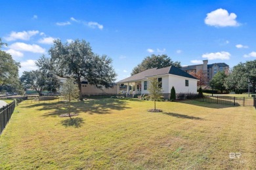
[[[185, 80], [188, 80], [188, 86], [186, 86]], [[197, 93], [196, 79], [169, 75], [169, 90], [171, 90], [173, 86], [176, 93]]]

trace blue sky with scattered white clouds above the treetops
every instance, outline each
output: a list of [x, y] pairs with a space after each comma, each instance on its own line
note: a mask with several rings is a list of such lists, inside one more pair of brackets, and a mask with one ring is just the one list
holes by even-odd
[[1, 1], [2, 48], [22, 71], [53, 39], [85, 39], [113, 59], [121, 80], [151, 54], [181, 65], [209, 59], [233, 67], [256, 59], [255, 1]]

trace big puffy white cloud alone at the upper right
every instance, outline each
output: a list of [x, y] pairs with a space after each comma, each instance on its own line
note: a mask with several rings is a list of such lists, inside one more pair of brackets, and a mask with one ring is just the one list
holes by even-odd
[[236, 14], [230, 13], [225, 9], [213, 10], [207, 14], [204, 20], [205, 24], [215, 27], [239, 26], [236, 21]]

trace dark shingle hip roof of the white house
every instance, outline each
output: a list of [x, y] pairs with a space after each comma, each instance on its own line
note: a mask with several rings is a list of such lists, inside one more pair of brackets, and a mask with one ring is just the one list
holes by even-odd
[[187, 77], [187, 78], [197, 79], [194, 76], [182, 71], [178, 67], [169, 66], [169, 67], [164, 67], [164, 68], [161, 68], [161, 69], [158, 69], [158, 68], [147, 69], [147, 70], [142, 71], [142, 72], [140, 72], [136, 75], [129, 76], [128, 78], [120, 80], [119, 82], [130, 82], [130, 81], [135, 81], [135, 80], [142, 80], [142, 79], [148, 78], [149, 76], [166, 75], [166, 74], [184, 76], [184, 77]]

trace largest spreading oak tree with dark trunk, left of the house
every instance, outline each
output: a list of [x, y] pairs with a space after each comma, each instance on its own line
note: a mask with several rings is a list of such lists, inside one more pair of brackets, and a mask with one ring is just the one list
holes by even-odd
[[[116, 72], [112, 68], [112, 59], [108, 56], [93, 54], [89, 42], [78, 39], [68, 44], [62, 44], [60, 40], [54, 41], [49, 50], [51, 62], [58, 76], [74, 77], [79, 88], [79, 99], [81, 94], [81, 80], [85, 78], [89, 84], [100, 88], [109, 88], [116, 80]], [[99, 86], [98, 86], [99, 85]]]

